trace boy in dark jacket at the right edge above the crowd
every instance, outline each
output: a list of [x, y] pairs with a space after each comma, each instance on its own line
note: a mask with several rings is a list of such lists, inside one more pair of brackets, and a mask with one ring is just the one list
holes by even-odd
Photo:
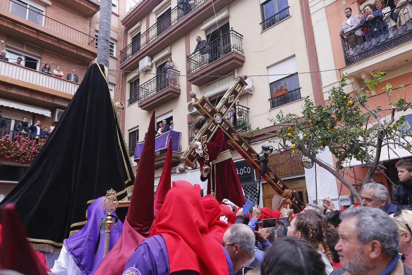
[[392, 203], [398, 205], [398, 210], [412, 207], [412, 160], [396, 162], [399, 185], [393, 191]]

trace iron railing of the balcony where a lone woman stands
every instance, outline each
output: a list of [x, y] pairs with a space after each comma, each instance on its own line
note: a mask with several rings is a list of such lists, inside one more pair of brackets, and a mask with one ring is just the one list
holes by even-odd
[[156, 75], [151, 80], [139, 85], [137, 101], [143, 101], [170, 86], [180, 89], [179, 77], [180, 71], [174, 69], [168, 69], [166, 73]]

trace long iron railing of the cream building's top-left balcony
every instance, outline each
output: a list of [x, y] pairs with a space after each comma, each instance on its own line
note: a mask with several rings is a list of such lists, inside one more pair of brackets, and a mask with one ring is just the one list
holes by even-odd
[[147, 29], [147, 31], [140, 34], [140, 39], [131, 42], [120, 51], [120, 64], [128, 60], [133, 54], [140, 51], [140, 49], [147, 46], [150, 42], [159, 37], [159, 35], [164, 33], [164, 31], [176, 24], [180, 19], [205, 1], [206, 0], [191, 0], [178, 4], [169, 12], [169, 14], [167, 14], [167, 16], [164, 16], [163, 19], [159, 20]]

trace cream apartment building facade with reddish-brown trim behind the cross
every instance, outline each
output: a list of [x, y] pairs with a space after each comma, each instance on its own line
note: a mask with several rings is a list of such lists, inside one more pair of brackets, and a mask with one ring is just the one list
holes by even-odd
[[[179, 144], [173, 148], [172, 180], [200, 183], [206, 194], [198, 167], [176, 172], [179, 157], [193, 138], [188, 124], [199, 115], [190, 106], [190, 91], [216, 105], [236, 77], [248, 75], [248, 87], [227, 118], [239, 132], [256, 127], [276, 130], [268, 119], [281, 110], [299, 114], [304, 96], [323, 103], [310, 16], [304, 16], [308, 13], [304, 1], [140, 1], [122, 19], [125, 38], [119, 66], [126, 71], [122, 77], [122, 100], [127, 102], [122, 123], [131, 157], [136, 142], [144, 140], [155, 109], [157, 124], [173, 120], [178, 132], [173, 136]], [[193, 53], [198, 36], [206, 40], [206, 50]], [[165, 71], [168, 58], [174, 68]], [[286, 87], [287, 94], [274, 97], [272, 92], [279, 85]], [[260, 152], [269, 137], [248, 136], [248, 141]], [[163, 149], [156, 154], [157, 177], [165, 153]], [[256, 200], [258, 174], [236, 151], [232, 155], [245, 196]], [[273, 154], [269, 165], [304, 202], [316, 197], [314, 170], [304, 169], [299, 157]], [[318, 194], [324, 190], [337, 195], [335, 179], [326, 173], [323, 179]], [[261, 204], [271, 207], [273, 194], [263, 183]]]

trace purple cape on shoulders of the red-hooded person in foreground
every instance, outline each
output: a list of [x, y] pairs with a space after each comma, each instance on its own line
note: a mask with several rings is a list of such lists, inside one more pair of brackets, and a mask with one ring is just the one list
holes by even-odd
[[[229, 253], [223, 247], [222, 249], [225, 252], [229, 275], [234, 275], [233, 264]], [[133, 266], [144, 275], [170, 274], [169, 254], [167, 252], [166, 242], [162, 235], [149, 237], [142, 242], [133, 254], [131, 254], [129, 260], [127, 260], [124, 272]]]

